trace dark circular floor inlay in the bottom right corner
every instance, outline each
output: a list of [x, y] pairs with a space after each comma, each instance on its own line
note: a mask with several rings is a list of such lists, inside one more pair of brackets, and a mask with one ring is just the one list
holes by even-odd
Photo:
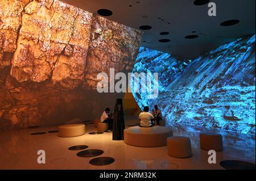
[[255, 170], [255, 164], [239, 160], [224, 160], [220, 165], [227, 170]]

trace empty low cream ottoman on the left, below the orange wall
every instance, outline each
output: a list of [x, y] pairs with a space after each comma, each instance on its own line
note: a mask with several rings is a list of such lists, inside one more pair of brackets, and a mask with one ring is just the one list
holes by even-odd
[[59, 126], [59, 137], [75, 137], [85, 134], [84, 124], [66, 124]]

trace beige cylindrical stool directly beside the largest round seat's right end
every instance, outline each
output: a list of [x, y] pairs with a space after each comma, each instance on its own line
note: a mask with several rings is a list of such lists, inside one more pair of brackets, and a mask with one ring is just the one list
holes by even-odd
[[175, 158], [192, 156], [191, 142], [188, 137], [173, 136], [167, 138], [168, 155]]

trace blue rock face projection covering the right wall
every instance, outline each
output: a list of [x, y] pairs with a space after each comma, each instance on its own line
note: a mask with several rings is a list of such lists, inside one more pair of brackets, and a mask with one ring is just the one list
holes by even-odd
[[141, 47], [133, 72], [159, 73], [157, 99], [133, 95], [141, 108], [158, 104], [168, 126], [255, 134], [255, 35], [193, 61]]

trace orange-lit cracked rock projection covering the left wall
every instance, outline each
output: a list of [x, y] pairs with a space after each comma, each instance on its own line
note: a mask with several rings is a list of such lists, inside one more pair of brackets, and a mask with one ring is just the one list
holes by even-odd
[[98, 118], [122, 95], [97, 74], [133, 69], [142, 32], [56, 0], [0, 0], [0, 129]]

